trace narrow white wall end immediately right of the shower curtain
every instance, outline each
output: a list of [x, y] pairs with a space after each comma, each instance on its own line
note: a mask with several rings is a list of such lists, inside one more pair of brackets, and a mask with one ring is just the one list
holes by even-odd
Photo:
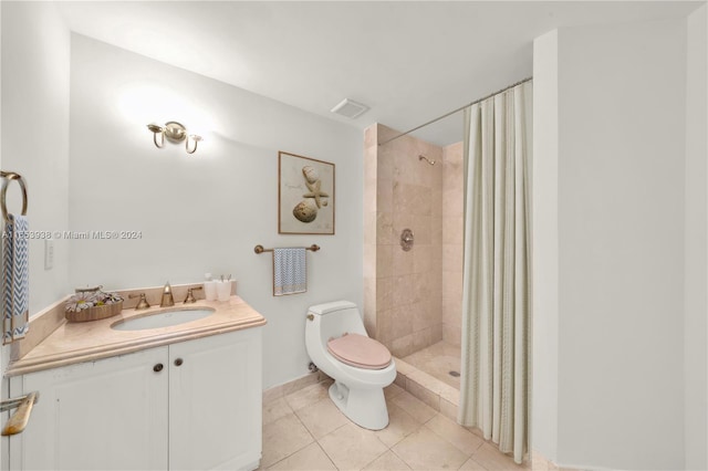
[[[533, 384], [531, 443], [558, 461], [558, 31], [533, 43]], [[537, 257], [541, 254], [542, 257]], [[535, 280], [539, 280], [538, 282]]]

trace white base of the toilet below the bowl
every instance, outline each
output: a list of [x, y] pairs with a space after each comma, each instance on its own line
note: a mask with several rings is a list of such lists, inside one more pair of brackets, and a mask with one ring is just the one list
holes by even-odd
[[381, 430], [388, 425], [388, 409], [384, 388], [350, 389], [334, 381], [330, 398], [351, 421], [369, 430]]

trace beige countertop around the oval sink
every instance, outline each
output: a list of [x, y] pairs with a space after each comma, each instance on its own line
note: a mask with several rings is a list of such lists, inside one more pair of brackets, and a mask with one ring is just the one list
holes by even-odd
[[[111, 328], [113, 324], [134, 317], [164, 311], [204, 307], [214, 308], [214, 314], [169, 327], [144, 331]], [[63, 322], [22, 358], [11, 362], [6, 376], [92, 362], [264, 324], [266, 318], [237, 295], [232, 295], [228, 302], [199, 300], [194, 304], [176, 302], [174, 307], [155, 306], [142, 311], [123, 310], [121, 314], [101, 321]]]

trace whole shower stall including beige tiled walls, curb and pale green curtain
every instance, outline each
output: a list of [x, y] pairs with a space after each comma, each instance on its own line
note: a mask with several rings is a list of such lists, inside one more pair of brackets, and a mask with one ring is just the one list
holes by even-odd
[[368, 332], [398, 358], [399, 386], [517, 463], [529, 447], [530, 82], [468, 105], [465, 144], [410, 135], [427, 124], [375, 125], [364, 153]]

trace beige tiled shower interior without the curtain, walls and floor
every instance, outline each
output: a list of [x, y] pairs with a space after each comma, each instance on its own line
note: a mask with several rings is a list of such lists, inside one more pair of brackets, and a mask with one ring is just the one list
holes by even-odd
[[364, 321], [414, 368], [459, 389], [462, 143], [365, 133]]

